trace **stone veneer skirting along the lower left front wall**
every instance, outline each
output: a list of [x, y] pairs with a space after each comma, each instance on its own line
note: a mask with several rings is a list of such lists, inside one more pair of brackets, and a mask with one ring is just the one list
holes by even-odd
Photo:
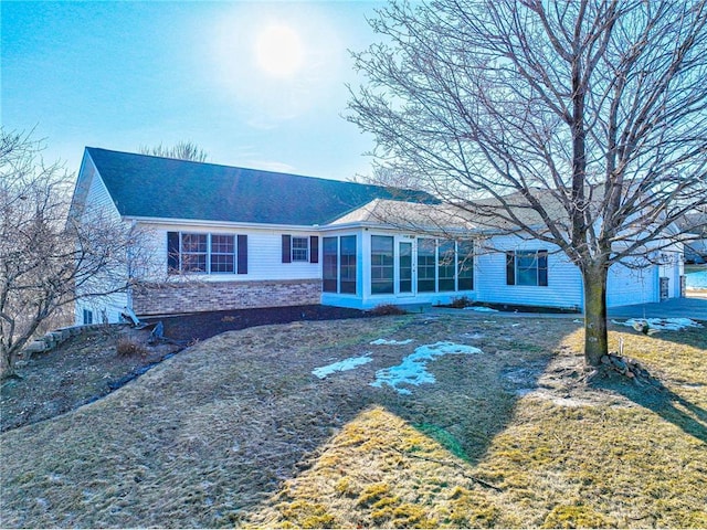
[[321, 303], [320, 279], [184, 282], [135, 287], [136, 315], [222, 311]]

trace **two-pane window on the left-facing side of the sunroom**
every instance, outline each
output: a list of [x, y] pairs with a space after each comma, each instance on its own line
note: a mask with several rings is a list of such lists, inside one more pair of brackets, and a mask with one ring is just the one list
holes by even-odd
[[356, 236], [324, 237], [321, 247], [321, 290], [355, 295]]

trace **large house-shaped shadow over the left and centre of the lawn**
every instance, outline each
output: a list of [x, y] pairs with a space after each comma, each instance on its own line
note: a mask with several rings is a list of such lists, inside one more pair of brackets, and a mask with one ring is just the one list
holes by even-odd
[[[235, 315], [226, 316], [218, 324], [232, 325]], [[240, 524], [287, 480], [323, 464], [337, 433], [376, 406], [475, 465], [513, 422], [520, 391], [537, 386], [552, 359], [549, 340], [534, 349], [525, 339], [541, 338], [556, 324], [516, 328], [499, 321], [482, 329], [481, 319], [397, 318], [295, 322], [214, 337], [103, 402], [30, 427], [46, 441], [41, 451], [22, 451], [29, 431], [3, 434], [8, 453], [23, 454], [0, 477], [3, 490], [14, 491], [0, 502], [3, 526]], [[372, 339], [414, 338], [424, 344], [479, 330], [486, 338], [468, 341], [483, 353], [430, 363], [437, 383], [412, 388], [413, 395], [368, 384], [377, 370], [412, 352], [372, 347]], [[374, 360], [357, 370], [325, 380], [312, 374], [331, 359], [371, 350]], [[363, 432], [361, 439], [367, 436]], [[78, 446], [92, 447], [85, 454], [82, 449], [82, 466], [75, 465]], [[359, 465], [368, 473], [366, 459]], [[36, 478], [25, 484], [28, 469], [36, 470]], [[43, 477], [50, 475], [61, 476], [61, 484], [46, 483]], [[92, 477], [101, 477], [101, 484]], [[88, 487], [94, 495], [89, 505]], [[114, 509], [116, 491], [128, 509]], [[43, 509], [36, 498], [75, 507], [73, 519], [66, 522], [63, 510]]]

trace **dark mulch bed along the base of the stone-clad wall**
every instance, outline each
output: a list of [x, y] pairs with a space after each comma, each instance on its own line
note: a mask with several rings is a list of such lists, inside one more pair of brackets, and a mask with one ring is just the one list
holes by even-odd
[[165, 337], [189, 343], [205, 340], [225, 331], [252, 328], [254, 326], [289, 324], [298, 320], [339, 320], [370, 316], [370, 312], [359, 309], [317, 305], [194, 312], [175, 317], [146, 318], [145, 320], [147, 322], [161, 320], [165, 326]]

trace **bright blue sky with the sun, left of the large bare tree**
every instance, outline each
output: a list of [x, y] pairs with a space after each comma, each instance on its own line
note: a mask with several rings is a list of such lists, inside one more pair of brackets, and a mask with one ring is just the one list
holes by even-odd
[[7, 1], [2, 125], [77, 171], [84, 146], [191, 140], [215, 163], [348, 179], [372, 138], [341, 118], [359, 1]]

